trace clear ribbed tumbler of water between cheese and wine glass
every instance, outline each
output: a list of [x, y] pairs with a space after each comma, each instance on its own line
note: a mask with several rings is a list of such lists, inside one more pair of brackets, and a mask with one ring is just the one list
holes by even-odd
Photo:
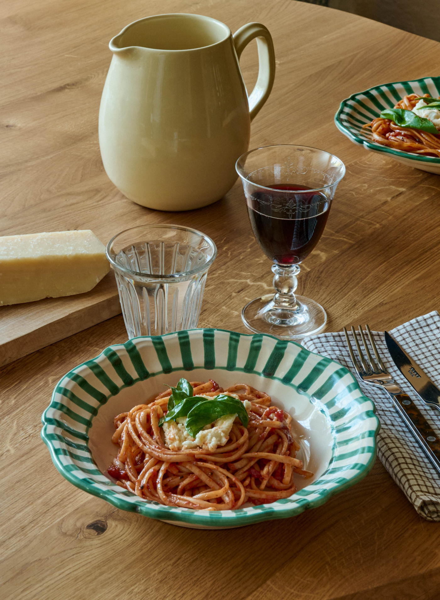
[[118, 233], [106, 253], [129, 338], [197, 326], [217, 255], [211, 238], [179, 225], [145, 225]]

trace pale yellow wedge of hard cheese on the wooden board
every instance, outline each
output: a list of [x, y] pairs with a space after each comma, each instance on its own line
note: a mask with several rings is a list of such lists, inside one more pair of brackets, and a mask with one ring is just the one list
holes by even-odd
[[0, 305], [89, 292], [109, 270], [89, 229], [0, 237]]

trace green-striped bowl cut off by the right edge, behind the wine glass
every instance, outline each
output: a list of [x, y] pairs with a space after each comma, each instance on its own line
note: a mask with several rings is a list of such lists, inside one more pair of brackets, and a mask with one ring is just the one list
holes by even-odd
[[393, 108], [403, 96], [408, 94], [430, 94], [440, 96], [440, 77], [422, 77], [412, 81], [384, 83], [364, 92], [352, 94], [343, 100], [334, 116], [336, 127], [352, 142], [364, 146], [373, 152], [389, 154], [394, 160], [408, 164], [416, 169], [440, 174], [440, 158], [420, 156], [411, 152], [387, 148], [368, 139], [362, 126], [378, 117], [382, 110]]

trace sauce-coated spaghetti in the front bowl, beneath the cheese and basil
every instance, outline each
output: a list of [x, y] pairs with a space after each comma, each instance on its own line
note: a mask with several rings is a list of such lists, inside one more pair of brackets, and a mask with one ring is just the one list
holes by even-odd
[[225, 390], [212, 380], [191, 385], [194, 395], [247, 401], [247, 427], [236, 418], [226, 444], [213, 451], [171, 450], [158, 424], [167, 412], [167, 389], [115, 417], [112, 442], [119, 453], [108, 473], [118, 485], [167, 506], [222, 511], [289, 497], [297, 489], [295, 473], [312, 477], [296, 458], [300, 446], [292, 437], [292, 417], [273, 406], [269, 395], [246, 383]]

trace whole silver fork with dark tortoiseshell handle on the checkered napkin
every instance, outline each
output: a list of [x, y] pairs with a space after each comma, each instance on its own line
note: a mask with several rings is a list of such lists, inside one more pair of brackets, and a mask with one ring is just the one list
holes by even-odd
[[344, 327], [345, 339], [348, 346], [348, 352], [350, 353], [351, 362], [356, 370], [358, 376], [369, 385], [375, 385], [379, 388], [384, 389], [393, 401], [394, 408], [399, 413], [400, 418], [411, 431], [421, 448], [423, 449], [426, 457], [430, 460], [433, 467], [440, 473], [440, 441], [437, 434], [426, 421], [420, 410], [415, 406], [414, 402], [409, 398], [408, 394], [402, 392], [397, 383], [394, 381], [393, 376], [388, 373], [384, 363], [381, 360], [375, 341], [373, 340], [372, 332], [368, 325], [365, 326], [367, 335], [370, 340], [370, 344], [375, 355], [376, 361], [370, 353], [364, 332], [359, 326], [360, 338], [365, 350], [366, 358], [361, 350], [361, 346], [356, 335], [355, 328], [352, 326], [351, 332], [356, 345], [356, 350], [359, 356], [357, 360], [353, 347], [351, 345], [348, 332]]

